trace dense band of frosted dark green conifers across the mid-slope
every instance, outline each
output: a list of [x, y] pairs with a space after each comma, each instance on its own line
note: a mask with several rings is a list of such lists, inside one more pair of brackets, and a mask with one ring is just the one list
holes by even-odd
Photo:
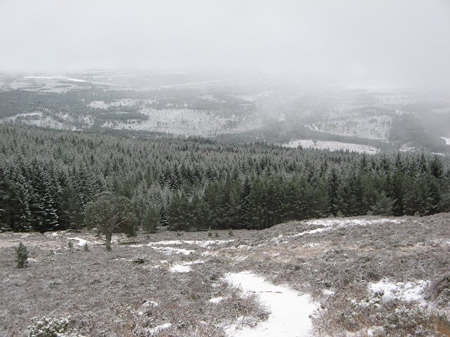
[[449, 168], [449, 157], [424, 153], [2, 125], [0, 230], [79, 229], [105, 192], [129, 205], [130, 233], [158, 225], [263, 229], [328, 216], [425, 216], [450, 211]]

